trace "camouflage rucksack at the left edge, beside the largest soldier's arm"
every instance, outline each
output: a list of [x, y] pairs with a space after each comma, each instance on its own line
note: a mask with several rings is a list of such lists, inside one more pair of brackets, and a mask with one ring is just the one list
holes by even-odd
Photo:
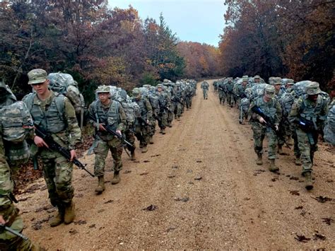
[[11, 164], [25, 163], [29, 156], [28, 144], [25, 141], [27, 128], [33, 127], [33, 119], [22, 101], [7, 105], [0, 109], [2, 139], [5, 154]]

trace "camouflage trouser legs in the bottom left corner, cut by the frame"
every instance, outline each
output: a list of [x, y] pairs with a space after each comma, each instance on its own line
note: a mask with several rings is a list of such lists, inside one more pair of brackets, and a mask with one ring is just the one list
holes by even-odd
[[[1, 206], [2, 210], [0, 214], [4, 216], [4, 220], [8, 221], [6, 226], [12, 228], [18, 233], [21, 233], [24, 227], [23, 219], [18, 214], [18, 209], [13, 204], [9, 204], [6, 206]], [[23, 240], [22, 238], [9, 233], [4, 230], [4, 232], [0, 232], [0, 250], [32, 250], [33, 243], [28, 240]]]

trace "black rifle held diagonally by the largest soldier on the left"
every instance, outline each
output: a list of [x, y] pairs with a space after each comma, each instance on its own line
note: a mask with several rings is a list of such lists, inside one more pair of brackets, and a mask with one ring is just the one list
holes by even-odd
[[[47, 143], [47, 145], [49, 146], [49, 149], [52, 149], [54, 151], [57, 151], [58, 153], [61, 153], [62, 156], [64, 156], [67, 160], [70, 161], [71, 159], [71, 153], [68, 149], [64, 148], [63, 146], [59, 145], [56, 141], [54, 141], [54, 139], [52, 139], [51, 134], [47, 133], [45, 131], [45, 129], [42, 129], [42, 127], [39, 127], [37, 124], [35, 125], [35, 133], [37, 136], [40, 136], [45, 143]], [[94, 177], [94, 175], [92, 173], [90, 173], [89, 170], [86, 169], [86, 165], [83, 165], [83, 163], [81, 163], [78, 158], [74, 158], [74, 160], [72, 160], [72, 163], [74, 163], [74, 165], [78, 166], [78, 168], [85, 170], [90, 176]]]

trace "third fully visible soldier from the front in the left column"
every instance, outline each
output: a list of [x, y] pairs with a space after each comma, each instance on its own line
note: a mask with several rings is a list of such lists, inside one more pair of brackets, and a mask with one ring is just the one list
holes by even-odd
[[139, 88], [134, 88], [133, 90], [133, 102], [139, 105], [141, 110], [141, 117], [137, 117], [135, 120], [135, 136], [140, 141], [140, 148], [142, 148], [142, 153], [148, 151], [149, 142], [149, 130], [151, 124], [151, 118], [153, 117], [153, 108], [147, 98], [141, 97], [141, 91]]

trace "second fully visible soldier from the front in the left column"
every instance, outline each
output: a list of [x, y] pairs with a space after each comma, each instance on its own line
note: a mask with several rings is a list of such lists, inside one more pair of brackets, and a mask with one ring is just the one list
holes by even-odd
[[111, 100], [109, 86], [99, 86], [96, 93], [98, 93], [99, 100], [93, 101], [88, 111], [90, 112], [89, 122], [95, 127], [94, 175], [98, 177], [98, 186], [95, 188], [95, 192], [101, 194], [105, 190], [105, 160], [109, 150], [114, 160], [112, 185], [119, 183], [119, 171], [122, 170], [122, 141], [108, 133], [105, 127], [109, 127], [122, 136], [126, 124], [126, 115], [122, 105], [115, 100]]

